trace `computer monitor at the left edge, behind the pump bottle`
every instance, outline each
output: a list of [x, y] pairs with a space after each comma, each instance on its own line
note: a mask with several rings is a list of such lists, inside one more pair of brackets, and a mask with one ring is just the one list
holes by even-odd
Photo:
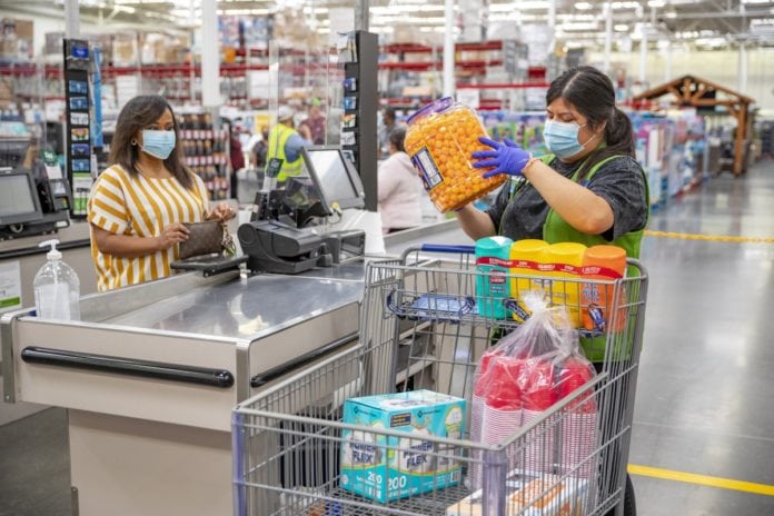
[[0, 226], [34, 222], [43, 218], [32, 172], [0, 169]]

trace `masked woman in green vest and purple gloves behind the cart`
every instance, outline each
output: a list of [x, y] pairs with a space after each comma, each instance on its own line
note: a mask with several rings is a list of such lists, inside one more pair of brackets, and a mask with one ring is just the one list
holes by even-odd
[[546, 93], [543, 138], [549, 155], [533, 158], [513, 141], [482, 138], [490, 150], [473, 153], [484, 173], [510, 176], [489, 209], [458, 212], [474, 239], [503, 235], [613, 244], [639, 256], [648, 217], [647, 180], [634, 158], [632, 123], [615, 106], [609, 78], [592, 67], [574, 68]]

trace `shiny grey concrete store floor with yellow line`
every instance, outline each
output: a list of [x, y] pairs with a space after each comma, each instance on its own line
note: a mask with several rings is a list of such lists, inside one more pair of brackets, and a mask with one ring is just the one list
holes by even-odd
[[[774, 237], [774, 163], [706, 181], [649, 227]], [[774, 244], [648, 236], [642, 259], [651, 286], [629, 463], [657, 469], [633, 475], [639, 514], [774, 514]], [[70, 514], [66, 428], [61, 409], [0, 427], [0, 516]]]

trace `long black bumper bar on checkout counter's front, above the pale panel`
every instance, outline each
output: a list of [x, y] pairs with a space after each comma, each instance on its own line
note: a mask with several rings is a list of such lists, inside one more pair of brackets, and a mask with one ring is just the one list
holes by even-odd
[[90, 353], [63, 351], [61, 349], [40, 348], [37, 346], [29, 346], [22, 349], [21, 359], [28, 364], [157, 378], [181, 381], [183, 384], [206, 385], [221, 389], [234, 386], [234, 375], [226, 369], [180, 366], [177, 364], [109, 357]]

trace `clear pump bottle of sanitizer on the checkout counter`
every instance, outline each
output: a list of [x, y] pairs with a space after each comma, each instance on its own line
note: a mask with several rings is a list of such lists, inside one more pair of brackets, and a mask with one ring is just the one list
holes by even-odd
[[59, 240], [46, 240], [38, 247], [50, 246], [48, 261], [34, 275], [34, 306], [38, 317], [46, 319], [80, 319], [80, 280], [72, 267], [62, 261], [57, 250]]

